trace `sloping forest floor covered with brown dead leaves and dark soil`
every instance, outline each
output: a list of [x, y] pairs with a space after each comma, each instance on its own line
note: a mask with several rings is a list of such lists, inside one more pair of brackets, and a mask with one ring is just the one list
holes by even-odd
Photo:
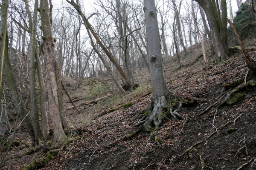
[[[256, 44], [254, 44], [255, 46]], [[243, 170], [256, 170], [256, 89], [247, 87], [244, 96], [235, 105], [219, 105], [234, 88], [224, 88], [224, 83], [244, 77], [247, 66], [240, 52], [227, 61], [207, 67], [203, 57], [193, 65], [200, 54], [200, 46], [189, 48], [188, 57], [181, 62], [182, 68], [170, 59], [164, 60], [164, 71], [169, 91], [182, 99], [195, 97], [198, 104], [182, 108], [183, 120], [166, 116], [163, 126], [156, 132], [162, 140], [161, 147], [151, 139], [150, 133], [140, 131], [131, 139], [125, 136], [137, 129], [136, 123], [151, 95], [139, 98], [150, 90], [150, 77], [146, 68], [136, 75], [140, 87], [127, 96], [110, 96], [89, 108], [79, 107], [67, 111], [73, 129], [70, 144], [61, 147], [52, 157], [45, 170], [236, 170], [248, 163]], [[248, 51], [256, 60], [256, 51]], [[213, 57], [209, 57], [212, 61]], [[100, 81], [113, 85], [109, 77]], [[109, 80], [109, 81], [108, 81]], [[110, 94], [100, 81], [85, 79], [79, 89], [73, 91], [75, 81], [67, 87], [73, 99], [89, 101]], [[64, 79], [64, 84], [67, 82]], [[71, 106], [64, 94], [65, 107]], [[76, 104], [79, 104], [78, 101]], [[102, 115], [103, 111], [132, 102], [128, 108], [120, 108]], [[209, 106], [214, 105], [208, 111]], [[22, 147], [25, 138], [17, 134], [22, 145], [8, 153], [11, 158], [5, 170], [22, 169], [40, 152], [12, 159]], [[28, 138], [29, 139], [29, 138]]]

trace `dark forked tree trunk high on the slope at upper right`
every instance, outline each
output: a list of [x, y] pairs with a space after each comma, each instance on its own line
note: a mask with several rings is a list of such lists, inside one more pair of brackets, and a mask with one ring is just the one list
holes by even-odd
[[195, 0], [204, 9], [210, 26], [212, 43], [218, 62], [228, 58], [227, 54], [227, 2], [221, 0], [221, 14], [215, 0]]

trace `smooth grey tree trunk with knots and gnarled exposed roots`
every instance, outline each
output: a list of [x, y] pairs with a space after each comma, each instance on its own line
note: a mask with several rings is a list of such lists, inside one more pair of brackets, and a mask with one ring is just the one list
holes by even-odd
[[148, 37], [148, 62], [152, 86], [150, 113], [142, 120], [146, 130], [151, 131], [160, 127], [164, 119], [167, 102], [171, 101], [164, 74], [161, 55], [160, 35], [157, 24], [157, 10], [154, 0], [144, 0], [144, 13]]

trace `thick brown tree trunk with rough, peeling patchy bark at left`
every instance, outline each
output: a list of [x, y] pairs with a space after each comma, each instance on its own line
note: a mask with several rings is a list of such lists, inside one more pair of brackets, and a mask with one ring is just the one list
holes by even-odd
[[[48, 0], [40, 0], [41, 29], [44, 40], [44, 58], [47, 64], [47, 88], [49, 97], [49, 114], [52, 119], [54, 143], [64, 141], [67, 136], [64, 129], [70, 133], [67, 118], [62, 104], [61, 83], [56, 62], [55, 48], [52, 37], [52, 26]], [[64, 127], [64, 129], [63, 129]]]

